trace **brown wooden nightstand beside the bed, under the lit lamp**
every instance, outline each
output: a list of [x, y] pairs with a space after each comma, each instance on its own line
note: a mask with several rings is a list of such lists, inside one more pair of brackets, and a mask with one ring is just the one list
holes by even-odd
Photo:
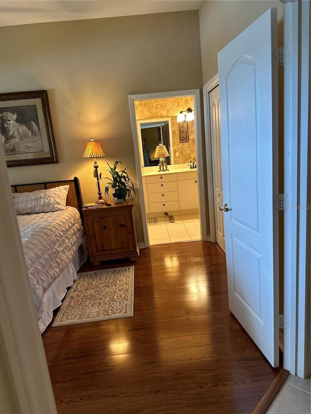
[[136, 241], [133, 206], [134, 199], [96, 209], [82, 209], [89, 260], [99, 265], [103, 260], [129, 258], [136, 261], [139, 247]]

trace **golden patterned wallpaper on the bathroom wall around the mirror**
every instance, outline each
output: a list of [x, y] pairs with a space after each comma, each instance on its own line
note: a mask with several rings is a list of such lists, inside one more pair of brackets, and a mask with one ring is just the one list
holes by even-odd
[[[188, 122], [189, 142], [179, 142], [177, 115], [187, 108], [193, 110], [193, 97], [150, 99], [135, 102], [136, 119], [171, 118], [174, 164], [196, 162], [194, 121]], [[176, 156], [178, 152], [178, 156]]]

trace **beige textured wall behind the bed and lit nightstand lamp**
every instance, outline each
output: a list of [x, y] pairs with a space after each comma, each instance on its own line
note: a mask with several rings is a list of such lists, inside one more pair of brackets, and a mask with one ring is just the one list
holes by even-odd
[[[9, 168], [11, 184], [76, 175], [93, 201], [93, 162], [82, 159], [91, 137], [106, 154], [100, 169], [121, 160], [136, 181], [128, 95], [202, 87], [198, 11], [3, 27], [0, 37], [0, 92], [48, 90], [59, 158]], [[142, 242], [138, 202], [135, 220]]]

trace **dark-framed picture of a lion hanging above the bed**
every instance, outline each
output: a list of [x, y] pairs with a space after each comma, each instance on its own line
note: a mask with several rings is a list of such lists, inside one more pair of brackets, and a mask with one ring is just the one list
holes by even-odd
[[58, 163], [47, 91], [0, 94], [0, 138], [8, 167]]

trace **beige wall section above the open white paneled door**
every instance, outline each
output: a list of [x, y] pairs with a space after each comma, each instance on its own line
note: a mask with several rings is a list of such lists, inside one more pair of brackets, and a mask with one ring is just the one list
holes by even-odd
[[277, 7], [281, 38], [283, 4], [278, 0], [202, 1], [199, 16], [203, 85], [218, 72], [217, 53], [270, 7]]

